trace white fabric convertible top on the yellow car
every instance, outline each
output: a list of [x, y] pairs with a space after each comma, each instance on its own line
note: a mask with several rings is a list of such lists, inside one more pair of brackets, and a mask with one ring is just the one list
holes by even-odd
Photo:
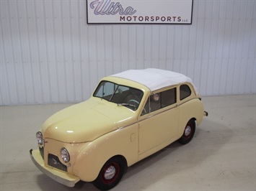
[[[160, 70], [156, 68], [148, 68], [144, 70], [127, 70], [123, 73], [117, 73], [111, 75], [112, 77], [125, 78], [133, 80], [137, 83], [141, 83], [148, 87], [151, 91], [159, 90], [169, 85], [177, 85], [180, 83], [192, 83], [192, 80], [181, 73], [175, 73], [169, 70]], [[198, 90], [195, 88], [195, 93], [198, 94]]]

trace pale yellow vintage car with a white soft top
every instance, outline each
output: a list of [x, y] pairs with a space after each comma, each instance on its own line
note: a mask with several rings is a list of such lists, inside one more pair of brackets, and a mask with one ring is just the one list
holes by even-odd
[[173, 141], [187, 144], [207, 115], [185, 75], [128, 70], [102, 78], [89, 100], [50, 116], [30, 157], [63, 185], [82, 180], [110, 190], [127, 167]]

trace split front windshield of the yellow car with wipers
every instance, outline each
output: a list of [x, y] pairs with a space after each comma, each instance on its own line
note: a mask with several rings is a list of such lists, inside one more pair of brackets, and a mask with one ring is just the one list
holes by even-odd
[[93, 96], [136, 111], [141, 103], [143, 91], [109, 81], [102, 81], [98, 85]]

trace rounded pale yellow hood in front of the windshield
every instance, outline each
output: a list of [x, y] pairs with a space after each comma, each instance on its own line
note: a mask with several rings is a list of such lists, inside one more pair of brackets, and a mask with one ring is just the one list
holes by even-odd
[[130, 109], [92, 97], [53, 114], [41, 131], [44, 139], [81, 143], [132, 124], [134, 120]]

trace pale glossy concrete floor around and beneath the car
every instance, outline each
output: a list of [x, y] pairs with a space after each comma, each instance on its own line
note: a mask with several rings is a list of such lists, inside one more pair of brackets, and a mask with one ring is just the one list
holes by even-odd
[[[112, 190], [256, 190], [256, 95], [205, 97], [209, 116], [194, 139], [177, 142], [128, 169]], [[0, 190], [96, 190], [66, 187], [30, 160], [35, 133], [48, 116], [71, 104], [1, 106]]]

